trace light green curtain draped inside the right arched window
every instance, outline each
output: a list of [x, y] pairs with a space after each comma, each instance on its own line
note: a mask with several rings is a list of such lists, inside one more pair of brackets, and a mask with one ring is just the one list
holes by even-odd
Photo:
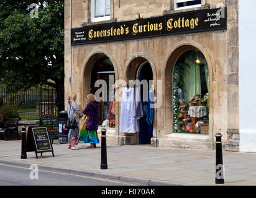
[[200, 66], [189, 57], [184, 62], [184, 97], [186, 101], [190, 101], [190, 97], [201, 94]]

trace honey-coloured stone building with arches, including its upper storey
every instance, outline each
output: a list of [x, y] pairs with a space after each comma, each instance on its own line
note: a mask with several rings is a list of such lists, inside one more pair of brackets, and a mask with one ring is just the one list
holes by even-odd
[[[159, 104], [152, 147], [211, 150], [214, 134], [221, 132], [224, 148], [239, 151], [238, 11], [243, 2], [247, 1], [65, 0], [65, 96], [75, 92], [83, 110], [97, 79], [112, 75], [114, 82], [128, 82], [139, 79], [145, 67]], [[199, 54], [208, 66], [209, 134], [174, 129], [173, 71], [188, 51]], [[118, 90], [124, 85], [117, 86]], [[100, 104], [103, 112], [106, 104]], [[139, 132], [119, 131], [121, 101], [116, 101], [114, 112], [116, 127], [107, 129], [107, 142], [140, 144]], [[101, 123], [105, 116], [103, 112]]]

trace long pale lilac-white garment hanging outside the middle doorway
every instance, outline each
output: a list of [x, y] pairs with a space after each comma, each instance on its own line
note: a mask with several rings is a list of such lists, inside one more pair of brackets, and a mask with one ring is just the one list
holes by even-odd
[[120, 132], [138, 132], [137, 119], [134, 116], [134, 88], [122, 88]]

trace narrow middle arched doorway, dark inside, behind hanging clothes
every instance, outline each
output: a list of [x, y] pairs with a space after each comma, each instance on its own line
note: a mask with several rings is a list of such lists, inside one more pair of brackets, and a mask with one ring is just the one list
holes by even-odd
[[137, 57], [130, 61], [126, 72], [126, 82], [129, 80], [139, 80], [140, 84], [134, 85], [134, 88], [140, 88], [140, 101], [142, 101], [143, 116], [138, 120], [139, 131], [136, 134], [127, 136], [135, 136], [137, 144], [150, 144], [153, 137], [153, 116], [149, 116], [149, 92], [153, 93], [153, 71], [149, 61], [143, 57]]

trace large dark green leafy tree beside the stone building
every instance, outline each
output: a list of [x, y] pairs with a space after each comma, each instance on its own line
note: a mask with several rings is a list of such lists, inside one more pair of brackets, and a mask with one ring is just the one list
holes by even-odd
[[[29, 5], [39, 4], [31, 18]], [[0, 80], [12, 90], [54, 80], [64, 109], [64, 1], [0, 0]]]

